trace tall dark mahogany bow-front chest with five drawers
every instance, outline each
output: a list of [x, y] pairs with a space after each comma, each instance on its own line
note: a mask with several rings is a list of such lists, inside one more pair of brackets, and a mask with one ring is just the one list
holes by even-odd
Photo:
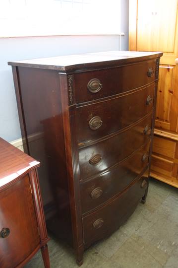
[[24, 144], [42, 163], [47, 226], [72, 242], [79, 265], [84, 249], [146, 200], [161, 56], [111, 51], [9, 63]]

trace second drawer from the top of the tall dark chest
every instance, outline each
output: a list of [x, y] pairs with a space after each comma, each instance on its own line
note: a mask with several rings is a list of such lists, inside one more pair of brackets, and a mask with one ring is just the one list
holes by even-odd
[[129, 126], [152, 111], [155, 84], [119, 98], [76, 109], [76, 133], [82, 144]]

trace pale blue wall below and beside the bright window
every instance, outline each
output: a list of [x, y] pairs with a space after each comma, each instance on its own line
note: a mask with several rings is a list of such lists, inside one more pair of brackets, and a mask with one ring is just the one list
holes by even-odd
[[[54, 36], [0, 39], [0, 136], [21, 137], [11, 67], [8, 61], [110, 50], [128, 50], [128, 0], [122, 0], [121, 31], [125, 36]], [[121, 38], [121, 42], [119, 40]]]

